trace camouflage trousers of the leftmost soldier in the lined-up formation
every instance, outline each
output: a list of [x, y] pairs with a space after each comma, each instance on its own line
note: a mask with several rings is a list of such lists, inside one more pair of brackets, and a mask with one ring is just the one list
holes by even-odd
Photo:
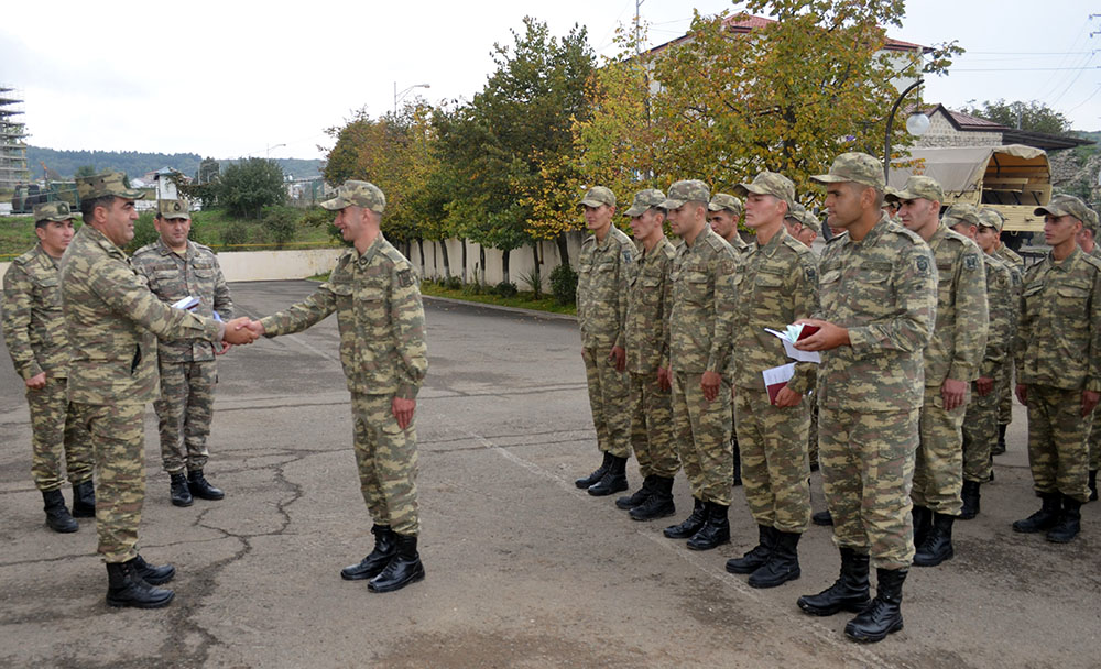
[[611, 349], [581, 349], [597, 448], [617, 458], [631, 457], [631, 382], [608, 359]]

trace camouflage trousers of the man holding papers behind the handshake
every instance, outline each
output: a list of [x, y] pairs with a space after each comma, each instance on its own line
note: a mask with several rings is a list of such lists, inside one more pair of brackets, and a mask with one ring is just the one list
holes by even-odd
[[161, 435], [164, 471], [178, 474], [206, 467], [206, 440], [214, 414], [218, 363], [161, 362], [161, 397], [153, 403]]

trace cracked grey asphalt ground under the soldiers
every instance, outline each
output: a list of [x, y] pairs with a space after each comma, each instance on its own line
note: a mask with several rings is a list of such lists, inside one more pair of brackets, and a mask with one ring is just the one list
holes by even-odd
[[[232, 289], [261, 316], [313, 286]], [[700, 553], [665, 539], [667, 522], [632, 522], [574, 487], [599, 458], [573, 321], [428, 301], [427, 322], [427, 579], [383, 595], [338, 574], [372, 537], [335, 319], [222, 358], [207, 467], [222, 502], [168, 503], [149, 410], [141, 549], [178, 569], [175, 601], [156, 611], [105, 605], [94, 522], [73, 535], [45, 527], [22, 383], [0, 365], [0, 666], [1101, 666], [1101, 506], [1084, 507], [1067, 546], [1010, 529], [1038, 507], [1022, 407], [982, 515], [957, 524], [957, 557], [912, 570], [905, 629], [862, 646], [843, 638], [848, 615], [795, 605], [836, 578], [827, 528], [804, 537], [799, 580], [757, 591], [723, 571], [756, 539], [741, 489], [732, 544]], [[629, 472], [636, 486], [633, 462]], [[816, 509], [820, 490], [816, 474]], [[683, 478], [675, 494], [678, 522], [691, 506]]]

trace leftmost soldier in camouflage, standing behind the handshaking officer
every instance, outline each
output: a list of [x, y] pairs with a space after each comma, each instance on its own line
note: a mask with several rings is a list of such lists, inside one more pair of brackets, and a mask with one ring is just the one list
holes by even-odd
[[[79, 528], [73, 516], [96, 515], [91, 443], [65, 394], [69, 348], [57, 264], [73, 240], [74, 218], [68, 202], [35, 205], [39, 243], [12, 261], [3, 276], [4, 341], [31, 412], [31, 475], [42, 492], [46, 525], [61, 533]], [[72, 515], [61, 490], [66, 472], [73, 484]]]

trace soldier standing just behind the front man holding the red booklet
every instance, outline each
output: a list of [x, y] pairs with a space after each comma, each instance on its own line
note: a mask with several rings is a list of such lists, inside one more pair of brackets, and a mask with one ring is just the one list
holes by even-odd
[[[952, 524], [960, 514], [963, 486], [963, 416], [971, 382], [979, 376], [986, 346], [986, 279], [982, 251], [940, 220], [944, 190], [935, 179], [912, 176], [897, 201], [902, 224], [916, 232], [937, 261], [937, 325], [925, 349], [925, 398], [920, 445], [914, 467], [914, 564], [936, 567], [955, 555]], [[970, 205], [956, 205], [952, 218], [978, 223]], [[946, 215], [948, 216], [948, 215]]]

